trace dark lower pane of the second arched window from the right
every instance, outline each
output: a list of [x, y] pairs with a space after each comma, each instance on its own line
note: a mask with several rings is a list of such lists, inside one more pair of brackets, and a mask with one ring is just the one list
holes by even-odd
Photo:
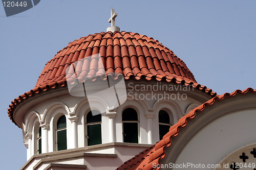
[[123, 123], [123, 142], [138, 143], [138, 123]]

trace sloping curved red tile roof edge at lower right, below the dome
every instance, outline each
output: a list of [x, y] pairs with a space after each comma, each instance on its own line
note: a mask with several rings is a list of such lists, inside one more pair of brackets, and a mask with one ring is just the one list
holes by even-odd
[[169, 147], [172, 144], [172, 139], [175, 136], [179, 135], [179, 128], [184, 128], [187, 125], [187, 121], [193, 121], [193, 118], [197, 113], [202, 112], [206, 107], [210, 107], [216, 103], [216, 101], [222, 101], [226, 98], [232, 98], [237, 94], [244, 95], [246, 93], [254, 93], [256, 94], [256, 89], [247, 88], [243, 91], [236, 90], [232, 93], [224, 93], [219, 96], [215, 96], [215, 98], [210, 99], [209, 101], [203, 103], [197, 108], [191, 110], [188, 114], [179, 119], [179, 122], [172, 127], [170, 127], [169, 132], [163, 136], [163, 139], [154, 144], [152, 147], [142, 151], [135, 157], [130, 160], [124, 162], [118, 170], [151, 170], [151, 169], [159, 169], [153, 168], [153, 164], [160, 164], [159, 160], [165, 157], [165, 148]]

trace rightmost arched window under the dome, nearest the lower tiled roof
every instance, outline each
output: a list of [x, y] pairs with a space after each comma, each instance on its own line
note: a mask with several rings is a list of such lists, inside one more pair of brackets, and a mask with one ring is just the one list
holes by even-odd
[[169, 114], [164, 110], [159, 111], [158, 120], [159, 120], [159, 139], [161, 140], [163, 136], [167, 132], [169, 132], [169, 128], [170, 126], [172, 126], [172, 124], [170, 124]]

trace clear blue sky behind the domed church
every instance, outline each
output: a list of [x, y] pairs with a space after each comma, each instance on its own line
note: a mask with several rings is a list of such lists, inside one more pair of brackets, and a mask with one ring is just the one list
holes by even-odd
[[121, 31], [158, 39], [197, 82], [218, 94], [256, 88], [256, 1], [41, 1], [6, 17], [0, 5], [0, 164], [26, 162], [22, 130], [9, 120], [11, 101], [33, 89], [45, 64], [70, 41], [105, 32], [110, 10]]

